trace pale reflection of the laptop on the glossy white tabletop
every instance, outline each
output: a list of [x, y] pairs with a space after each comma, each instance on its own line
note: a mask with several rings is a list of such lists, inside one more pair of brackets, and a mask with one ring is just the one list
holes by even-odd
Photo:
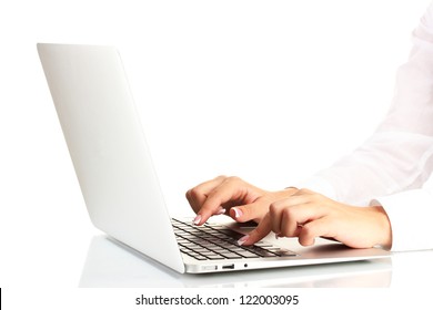
[[309, 288], [389, 287], [391, 258], [249, 270], [208, 275], [181, 275], [107, 235], [90, 242], [80, 287], [148, 288]]

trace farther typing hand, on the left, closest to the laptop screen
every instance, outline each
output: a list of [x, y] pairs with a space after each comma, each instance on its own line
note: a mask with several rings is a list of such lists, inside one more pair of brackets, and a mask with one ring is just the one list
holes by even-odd
[[290, 197], [295, 192], [295, 188], [268, 192], [239, 177], [219, 176], [188, 190], [187, 198], [198, 214], [194, 219], [197, 225], [202, 225], [212, 215], [225, 213], [240, 223], [259, 223], [272, 203]]

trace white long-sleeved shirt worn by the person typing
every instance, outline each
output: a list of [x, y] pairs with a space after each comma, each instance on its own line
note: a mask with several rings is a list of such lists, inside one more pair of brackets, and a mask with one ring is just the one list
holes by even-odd
[[391, 220], [392, 250], [425, 249], [433, 248], [433, 192], [421, 187], [432, 170], [433, 2], [413, 32], [413, 49], [397, 71], [391, 108], [376, 132], [296, 186], [354, 205], [376, 198], [373, 204], [382, 205]]

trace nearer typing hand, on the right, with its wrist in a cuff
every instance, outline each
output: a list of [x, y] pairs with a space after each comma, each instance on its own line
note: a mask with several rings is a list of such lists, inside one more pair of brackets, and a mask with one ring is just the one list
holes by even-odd
[[298, 237], [303, 246], [315, 237], [333, 238], [353, 248], [391, 247], [391, 225], [382, 207], [353, 207], [308, 189], [272, 203], [259, 226], [240, 239], [252, 245], [270, 231], [279, 237]]

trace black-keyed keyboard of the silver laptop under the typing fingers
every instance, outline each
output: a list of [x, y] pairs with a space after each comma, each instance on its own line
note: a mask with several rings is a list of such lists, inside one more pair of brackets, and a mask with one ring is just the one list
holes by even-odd
[[198, 260], [296, 256], [291, 250], [263, 241], [253, 246], [239, 246], [238, 240], [244, 235], [225, 226], [213, 224], [195, 226], [178, 219], [172, 219], [172, 225], [181, 252]]

